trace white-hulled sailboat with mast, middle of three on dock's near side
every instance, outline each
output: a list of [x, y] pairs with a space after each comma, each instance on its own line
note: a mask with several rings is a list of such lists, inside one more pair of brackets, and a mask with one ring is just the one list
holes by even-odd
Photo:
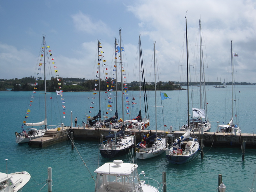
[[[154, 43], [154, 69], [155, 69], [155, 117], [156, 117], [156, 49]], [[157, 137], [157, 117], [156, 117], [156, 134], [151, 137], [144, 138], [135, 149], [136, 158], [148, 159], [159, 156], [164, 153], [167, 148], [165, 138]]]

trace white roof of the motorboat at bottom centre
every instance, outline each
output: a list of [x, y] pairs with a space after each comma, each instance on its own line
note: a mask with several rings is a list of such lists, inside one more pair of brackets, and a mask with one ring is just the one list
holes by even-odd
[[130, 175], [135, 169], [137, 164], [123, 163], [122, 160], [114, 160], [113, 163], [105, 163], [96, 169], [95, 173], [105, 174], [119, 174], [119, 175]]

